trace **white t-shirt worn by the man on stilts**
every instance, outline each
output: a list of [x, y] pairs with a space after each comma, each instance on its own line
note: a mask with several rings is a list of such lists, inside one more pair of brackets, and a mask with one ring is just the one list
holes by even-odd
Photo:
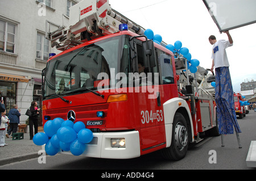
[[214, 60], [215, 69], [228, 66], [228, 56], [226, 56], [226, 48], [233, 46], [229, 43], [229, 40], [218, 40], [212, 48], [212, 59]]

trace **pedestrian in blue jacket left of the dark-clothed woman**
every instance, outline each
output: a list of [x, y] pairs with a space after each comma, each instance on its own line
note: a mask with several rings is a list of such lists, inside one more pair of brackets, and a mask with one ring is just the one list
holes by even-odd
[[19, 124], [20, 110], [18, 110], [17, 104], [13, 104], [13, 108], [9, 111], [10, 129], [7, 134], [11, 135], [11, 132], [16, 133]]

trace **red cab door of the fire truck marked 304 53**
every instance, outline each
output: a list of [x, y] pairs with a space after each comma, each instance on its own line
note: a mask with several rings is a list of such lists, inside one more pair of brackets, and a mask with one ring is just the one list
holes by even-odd
[[[162, 88], [159, 86], [159, 68], [150, 68], [147, 58], [144, 58], [142, 42], [134, 40], [134, 57], [139, 73], [139, 85], [135, 85], [139, 108], [139, 122], [141, 124], [141, 154], [164, 148], [165, 131], [163, 121], [163, 106], [161, 102]], [[133, 56], [131, 56], [133, 57]], [[156, 65], [157, 62], [156, 62]]]

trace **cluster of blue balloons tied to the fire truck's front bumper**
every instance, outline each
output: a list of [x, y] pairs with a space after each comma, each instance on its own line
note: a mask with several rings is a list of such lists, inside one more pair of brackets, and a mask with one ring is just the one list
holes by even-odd
[[74, 124], [71, 120], [64, 121], [57, 117], [44, 124], [44, 133], [36, 133], [33, 142], [38, 146], [46, 144], [48, 155], [56, 155], [62, 149], [78, 156], [84, 153], [86, 144], [92, 139], [92, 131], [86, 129], [81, 121]]

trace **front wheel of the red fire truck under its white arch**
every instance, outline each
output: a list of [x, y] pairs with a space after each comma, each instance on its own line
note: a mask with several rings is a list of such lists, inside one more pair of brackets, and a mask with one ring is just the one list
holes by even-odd
[[176, 112], [172, 124], [172, 142], [169, 148], [162, 150], [166, 159], [180, 160], [185, 157], [188, 150], [188, 126], [184, 116]]

